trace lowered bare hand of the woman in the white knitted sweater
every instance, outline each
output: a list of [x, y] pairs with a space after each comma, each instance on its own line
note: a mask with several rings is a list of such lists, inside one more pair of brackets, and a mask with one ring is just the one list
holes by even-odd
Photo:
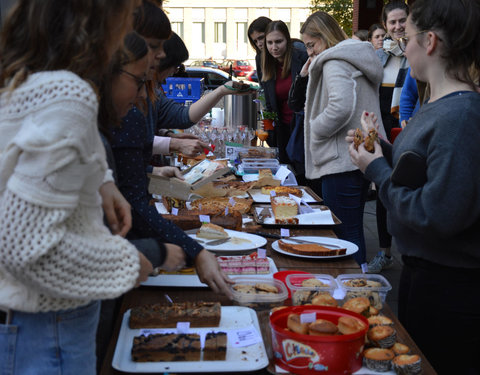
[[125, 237], [132, 227], [132, 212], [130, 203], [125, 199], [117, 185], [109, 181], [100, 186], [102, 208], [110, 231]]

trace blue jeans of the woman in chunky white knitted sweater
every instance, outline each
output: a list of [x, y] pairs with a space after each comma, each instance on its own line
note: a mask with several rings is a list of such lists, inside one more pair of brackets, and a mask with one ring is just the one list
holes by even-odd
[[47, 313], [13, 312], [0, 324], [1, 375], [94, 375], [100, 302]]

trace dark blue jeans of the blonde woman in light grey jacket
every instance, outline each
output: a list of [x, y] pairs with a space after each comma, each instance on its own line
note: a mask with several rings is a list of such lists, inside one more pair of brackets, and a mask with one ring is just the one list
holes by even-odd
[[[338, 238], [353, 242], [358, 251], [353, 255], [358, 264], [366, 262], [365, 235], [363, 233], [363, 209], [367, 199], [369, 182], [359, 170], [336, 173], [312, 180], [314, 190], [321, 190], [323, 201], [340, 219], [334, 226]], [[319, 186], [320, 185], [320, 186]]]

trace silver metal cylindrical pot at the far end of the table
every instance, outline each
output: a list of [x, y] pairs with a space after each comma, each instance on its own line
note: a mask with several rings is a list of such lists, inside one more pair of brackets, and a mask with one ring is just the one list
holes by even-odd
[[255, 129], [257, 127], [258, 112], [257, 103], [254, 102], [256, 98], [256, 92], [248, 95], [225, 96], [225, 126], [246, 125]]

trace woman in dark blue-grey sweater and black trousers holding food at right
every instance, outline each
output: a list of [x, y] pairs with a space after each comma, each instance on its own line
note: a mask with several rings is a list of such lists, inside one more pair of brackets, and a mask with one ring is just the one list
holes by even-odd
[[430, 98], [393, 147], [350, 146], [402, 254], [400, 321], [439, 374], [480, 373], [479, 24], [479, 0], [416, 0], [401, 43]]

